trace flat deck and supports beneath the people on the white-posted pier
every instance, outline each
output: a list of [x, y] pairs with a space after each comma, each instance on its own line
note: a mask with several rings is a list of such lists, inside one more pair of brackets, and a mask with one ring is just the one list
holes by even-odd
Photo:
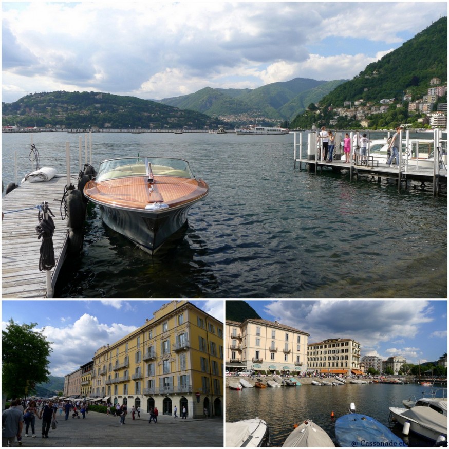
[[407, 188], [408, 181], [418, 181], [423, 183], [431, 183], [433, 186], [434, 195], [438, 195], [440, 192], [441, 184], [447, 185], [447, 169], [442, 168], [439, 170], [438, 174], [434, 173], [432, 168], [419, 166], [418, 169], [414, 163], [409, 163], [406, 169], [401, 169], [399, 171], [396, 165], [388, 167], [385, 163], [379, 162], [376, 164], [376, 159], [374, 160], [374, 164], [372, 164], [372, 160], [366, 165], [354, 165], [354, 163], [345, 163], [343, 160], [334, 160], [333, 162], [324, 162], [321, 160], [309, 160], [303, 158], [294, 159], [294, 166], [296, 167], [296, 163], [300, 164], [300, 169], [302, 165], [310, 165], [314, 168], [315, 173], [323, 172], [323, 169], [331, 169], [331, 170], [347, 170], [350, 179], [352, 177], [358, 178], [360, 175], [370, 175], [372, 178], [377, 178], [377, 182], [381, 182], [382, 178], [390, 178], [395, 179], [398, 185], [398, 189], [401, 189], [403, 186]]

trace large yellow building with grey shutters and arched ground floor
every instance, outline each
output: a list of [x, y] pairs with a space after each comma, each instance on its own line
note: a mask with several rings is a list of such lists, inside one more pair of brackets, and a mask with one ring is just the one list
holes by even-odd
[[221, 416], [223, 323], [188, 301], [172, 301], [151, 320], [93, 356], [92, 394], [113, 404], [190, 418]]

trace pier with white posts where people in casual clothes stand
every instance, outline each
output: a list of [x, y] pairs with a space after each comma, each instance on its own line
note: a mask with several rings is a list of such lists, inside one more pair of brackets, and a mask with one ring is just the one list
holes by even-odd
[[[298, 136], [299, 135], [299, 136]], [[352, 142], [351, 133], [351, 142]], [[303, 141], [304, 139], [304, 141]], [[438, 147], [438, 139], [435, 141], [435, 147]], [[320, 159], [320, 149], [317, 148], [315, 133], [294, 133], [294, 167], [296, 163], [308, 165], [315, 173], [322, 173], [324, 167], [332, 170], [347, 170], [350, 180], [353, 177], [358, 178], [360, 175], [370, 175], [372, 179], [377, 178], [380, 183], [382, 179], [394, 179], [398, 185], [398, 190], [408, 187], [408, 181], [418, 181], [421, 185], [431, 183], [434, 196], [439, 195], [441, 184], [447, 185], [447, 167], [438, 159], [432, 167], [423, 166], [418, 160], [408, 161], [407, 164], [400, 166], [392, 165], [388, 167], [385, 160], [378, 159], [376, 156], [369, 155], [368, 162], [364, 165], [356, 165], [354, 162], [354, 151], [351, 148], [350, 162], [345, 163], [344, 160], [335, 159], [338, 155], [333, 155], [333, 162], [325, 162]], [[344, 158], [344, 155], [341, 155]], [[441, 166], [440, 166], [441, 165]]]

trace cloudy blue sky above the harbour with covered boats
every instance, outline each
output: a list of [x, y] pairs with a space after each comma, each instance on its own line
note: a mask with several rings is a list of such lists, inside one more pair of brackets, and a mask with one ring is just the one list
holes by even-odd
[[310, 334], [309, 343], [350, 338], [361, 354], [408, 363], [437, 361], [447, 352], [447, 302], [442, 301], [246, 301], [264, 320]]

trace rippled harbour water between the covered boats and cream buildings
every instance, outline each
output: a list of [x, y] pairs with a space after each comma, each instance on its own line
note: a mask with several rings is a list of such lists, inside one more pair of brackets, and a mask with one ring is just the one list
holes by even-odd
[[[282, 388], [226, 389], [226, 421], [258, 416], [267, 422], [272, 446], [282, 446], [293, 431], [295, 423], [311, 419], [335, 442], [335, 421], [356, 405], [356, 413], [366, 414], [390, 428], [400, 438], [402, 426], [390, 423], [388, 407], [403, 408], [402, 400], [421, 397], [424, 387], [418, 384], [345, 384], [341, 386], [312, 386]], [[333, 411], [335, 417], [331, 418]], [[410, 447], [432, 446], [419, 436], [410, 434]]]

